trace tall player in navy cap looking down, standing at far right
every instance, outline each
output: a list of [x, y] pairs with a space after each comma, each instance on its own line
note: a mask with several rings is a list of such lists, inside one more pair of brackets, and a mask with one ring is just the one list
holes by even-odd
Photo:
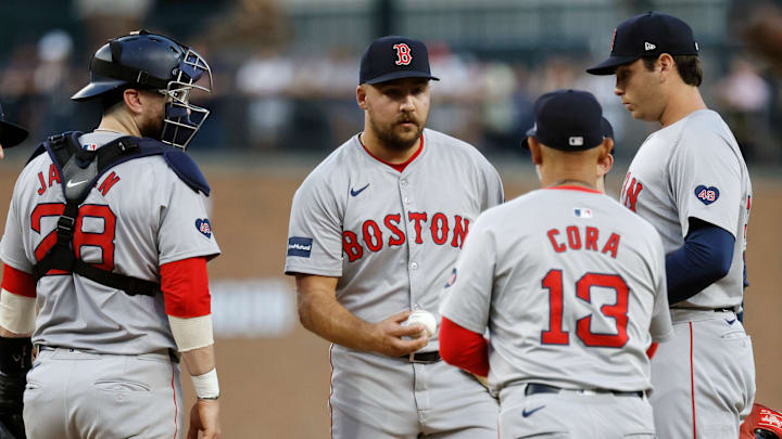
[[608, 60], [630, 114], [658, 122], [633, 158], [621, 202], [655, 225], [666, 251], [676, 337], [652, 363], [664, 438], [737, 437], [753, 406], [752, 343], [736, 313], [745, 283], [752, 184], [730, 128], [708, 109], [692, 29], [649, 12], [614, 31]]

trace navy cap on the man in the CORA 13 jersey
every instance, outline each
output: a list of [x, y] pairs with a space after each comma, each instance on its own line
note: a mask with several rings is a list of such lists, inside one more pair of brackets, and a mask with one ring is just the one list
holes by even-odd
[[[613, 138], [614, 129], [592, 93], [557, 90], [538, 98], [535, 125], [527, 131], [538, 142], [560, 151], [585, 151]], [[529, 149], [527, 138], [521, 146]]]

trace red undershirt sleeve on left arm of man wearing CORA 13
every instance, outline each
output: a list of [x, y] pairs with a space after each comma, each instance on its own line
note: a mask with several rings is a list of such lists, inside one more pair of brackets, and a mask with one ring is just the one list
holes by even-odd
[[440, 322], [440, 357], [446, 363], [479, 376], [489, 375], [489, 341], [443, 317]]

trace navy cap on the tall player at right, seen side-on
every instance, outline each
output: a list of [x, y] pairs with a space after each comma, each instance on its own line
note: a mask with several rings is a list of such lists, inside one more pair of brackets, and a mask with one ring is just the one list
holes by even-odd
[[592, 75], [614, 75], [622, 64], [645, 56], [697, 55], [698, 47], [690, 26], [673, 15], [647, 12], [626, 20], [611, 36], [610, 56], [586, 69]]

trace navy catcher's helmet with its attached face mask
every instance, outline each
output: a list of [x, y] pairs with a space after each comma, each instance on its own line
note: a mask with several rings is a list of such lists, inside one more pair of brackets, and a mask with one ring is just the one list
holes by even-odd
[[[204, 74], [209, 86], [197, 86]], [[211, 92], [212, 70], [189, 47], [139, 30], [98, 49], [90, 60], [90, 83], [71, 99], [88, 101], [128, 88], [157, 90], [167, 96], [161, 141], [185, 149], [210, 113], [190, 104], [190, 90]], [[197, 116], [194, 121], [191, 115]]]

